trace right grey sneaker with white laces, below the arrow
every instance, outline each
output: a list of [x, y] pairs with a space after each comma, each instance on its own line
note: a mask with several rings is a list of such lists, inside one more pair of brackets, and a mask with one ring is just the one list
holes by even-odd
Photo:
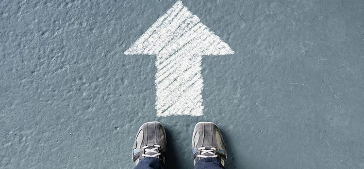
[[227, 158], [220, 129], [211, 122], [199, 122], [192, 135], [194, 165], [202, 158], [217, 158], [223, 166]]

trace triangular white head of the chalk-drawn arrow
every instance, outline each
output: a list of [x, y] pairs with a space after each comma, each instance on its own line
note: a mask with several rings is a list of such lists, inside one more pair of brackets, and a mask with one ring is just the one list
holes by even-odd
[[179, 50], [200, 56], [234, 54], [182, 1], [177, 1], [124, 54], [172, 55]]

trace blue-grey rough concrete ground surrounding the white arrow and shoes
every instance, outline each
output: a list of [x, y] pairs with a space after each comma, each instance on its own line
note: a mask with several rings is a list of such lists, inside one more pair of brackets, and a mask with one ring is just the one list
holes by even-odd
[[174, 0], [1, 0], [0, 169], [131, 169], [160, 121], [192, 168], [199, 121], [227, 169], [364, 169], [363, 0], [183, 0], [235, 51], [202, 60], [204, 116], [156, 117], [155, 56], [123, 52]]

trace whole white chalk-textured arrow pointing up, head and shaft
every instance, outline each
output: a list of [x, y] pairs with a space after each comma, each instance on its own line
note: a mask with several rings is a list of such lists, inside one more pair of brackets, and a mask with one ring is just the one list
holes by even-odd
[[203, 55], [234, 51], [177, 1], [125, 55], [157, 55], [155, 75], [158, 116], [202, 115]]

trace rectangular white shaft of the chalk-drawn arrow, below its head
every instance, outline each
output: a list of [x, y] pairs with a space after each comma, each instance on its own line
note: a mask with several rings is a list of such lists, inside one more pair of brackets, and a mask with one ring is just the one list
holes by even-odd
[[[193, 54], [157, 55], [155, 84], [158, 116], [202, 115], [201, 61], [201, 56]], [[162, 64], [165, 62], [168, 64]]]

